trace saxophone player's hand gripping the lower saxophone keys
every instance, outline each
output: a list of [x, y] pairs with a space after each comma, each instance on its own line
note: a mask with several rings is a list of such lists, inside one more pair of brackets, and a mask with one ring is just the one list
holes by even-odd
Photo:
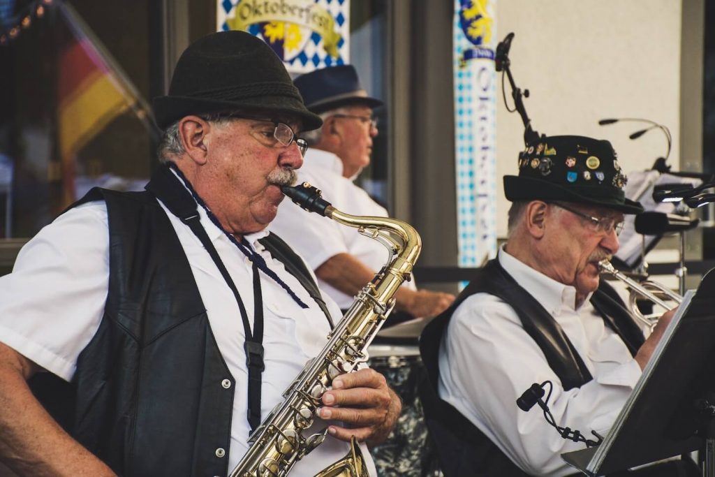
[[397, 421], [402, 403], [385, 382], [385, 377], [369, 368], [337, 376], [332, 390], [322, 395], [320, 418], [340, 421], [328, 433], [341, 441], [352, 436], [373, 446], [385, 440]]

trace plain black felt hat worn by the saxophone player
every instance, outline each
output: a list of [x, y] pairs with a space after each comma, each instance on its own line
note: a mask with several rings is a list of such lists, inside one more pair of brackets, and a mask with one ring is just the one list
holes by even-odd
[[188, 114], [270, 109], [295, 114], [303, 130], [320, 117], [306, 109], [275, 52], [246, 31], [219, 31], [190, 44], [177, 62], [167, 96], [154, 98], [161, 129]]

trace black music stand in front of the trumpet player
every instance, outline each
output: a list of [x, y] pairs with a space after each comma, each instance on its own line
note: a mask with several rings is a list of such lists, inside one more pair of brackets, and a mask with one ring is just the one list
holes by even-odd
[[[561, 454], [588, 476], [715, 449], [715, 271], [686, 293], [601, 446]], [[707, 446], [704, 443], [707, 441]]]

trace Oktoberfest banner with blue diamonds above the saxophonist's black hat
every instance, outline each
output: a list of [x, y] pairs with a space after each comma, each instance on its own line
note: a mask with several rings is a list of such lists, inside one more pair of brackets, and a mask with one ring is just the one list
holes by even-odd
[[350, 62], [350, 0], [217, 0], [217, 29], [262, 38], [292, 73]]

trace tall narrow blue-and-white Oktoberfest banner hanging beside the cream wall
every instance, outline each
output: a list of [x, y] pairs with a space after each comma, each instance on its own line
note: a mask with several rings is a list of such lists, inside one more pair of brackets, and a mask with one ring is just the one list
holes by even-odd
[[453, 71], [460, 267], [496, 255], [496, 0], [455, 0]]

